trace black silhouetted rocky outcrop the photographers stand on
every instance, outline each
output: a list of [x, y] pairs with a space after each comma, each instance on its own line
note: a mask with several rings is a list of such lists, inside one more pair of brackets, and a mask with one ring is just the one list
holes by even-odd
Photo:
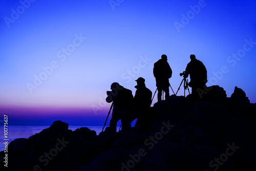
[[172, 95], [154, 104], [147, 133], [107, 127], [97, 136], [55, 121], [9, 144], [8, 170], [256, 170], [255, 114], [242, 89], [227, 98], [212, 86], [203, 101]]

